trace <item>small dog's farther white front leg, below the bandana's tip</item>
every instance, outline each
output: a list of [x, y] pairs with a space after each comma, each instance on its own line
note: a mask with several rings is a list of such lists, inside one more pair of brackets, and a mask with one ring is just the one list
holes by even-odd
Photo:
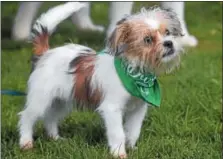
[[126, 112], [125, 116], [125, 135], [129, 148], [134, 148], [139, 138], [142, 122], [147, 111], [147, 105], [137, 105], [131, 111]]

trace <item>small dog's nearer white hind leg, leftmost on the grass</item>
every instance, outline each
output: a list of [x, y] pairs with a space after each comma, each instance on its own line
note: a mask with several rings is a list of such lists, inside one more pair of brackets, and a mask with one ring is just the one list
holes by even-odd
[[[35, 90], [37, 88], [33, 87]], [[28, 91], [25, 109], [19, 113], [19, 133], [20, 133], [20, 148], [30, 149], [33, 147], [33, 127], [35, 122], [44, 117], [44, 114], [52, 105], [52, 99], [48, 94], [44, 94], [42, 89]]]

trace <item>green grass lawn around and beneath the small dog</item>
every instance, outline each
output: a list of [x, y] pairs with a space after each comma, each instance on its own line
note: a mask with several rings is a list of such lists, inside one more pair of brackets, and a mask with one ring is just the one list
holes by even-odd
[[[2, 89], [26, 90], [31, 46], [9, 39], [17, 2], [2, 2]], [[137, 2], [140, 6], [154, 3]], [[52, 5], [47, 2], [42, 10]], [[93, 4], [96, 24], [108, 24], [108, 5]], [[100, 9], [100, 11], [99, 11]], [[137, 150], [131, 159], [220, 159], [222, 130], [222, 3], [187, 2], [186, 20], [199, 46], [188, 50], [181, 68], [160, 78], [162, 105], [152, 108], [144, 121]], [[76, 31], [67, 20], [51, 39], [51, 45], [69, 40], [99, 50], [104, 34]], [[25, 98], [2, 96], [1, 152], [5, 159], [104, 159], [108, 153], [103, 123], [97, 114], [73, 112], [60, 125], [63, 141], [49, 141], [41, 123], [35, 129], [35, 148], [18, 147], [17, 113]]]

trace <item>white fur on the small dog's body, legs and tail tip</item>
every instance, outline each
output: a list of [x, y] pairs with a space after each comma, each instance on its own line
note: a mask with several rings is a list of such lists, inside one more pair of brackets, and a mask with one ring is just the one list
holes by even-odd
[[[42, 15], [38, 23], [51, 32], [60, 21], [81, 6], [78, 2], [70, 2], [56, 7]], [[70, 71], [69, 64], [86, 49], [90, 48], [69, 44], [48, 50], [38, 61], [28, 81], [25, 109], [20, 112], [21, 148], [33, 146], [33, 126], [38, 119], [43, 119], [50, 137], [59, 138], [58, 121], [72, 110], [75, 100], [75, 77], [67, 73]], [[97, 111], [106, 126], [110, 151], [115, 157], [125, 158], [126, 144], [133, 148], [139, 137], [147, 104], [125, 90], [116, 74], [112, 55], [97, 57], [91, 85], [94, 88], [98, 84], [104, 98]]]

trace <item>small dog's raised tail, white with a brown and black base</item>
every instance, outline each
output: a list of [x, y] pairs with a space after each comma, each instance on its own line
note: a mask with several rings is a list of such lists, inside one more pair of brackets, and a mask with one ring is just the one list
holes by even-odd
[[49, 49], [49, 36], [56, 26], [84, 6], [84, 3], [67, 2], [42, 14], [34, 23], [31, 31], [34, 55], [41, 56], [47, 51]]

